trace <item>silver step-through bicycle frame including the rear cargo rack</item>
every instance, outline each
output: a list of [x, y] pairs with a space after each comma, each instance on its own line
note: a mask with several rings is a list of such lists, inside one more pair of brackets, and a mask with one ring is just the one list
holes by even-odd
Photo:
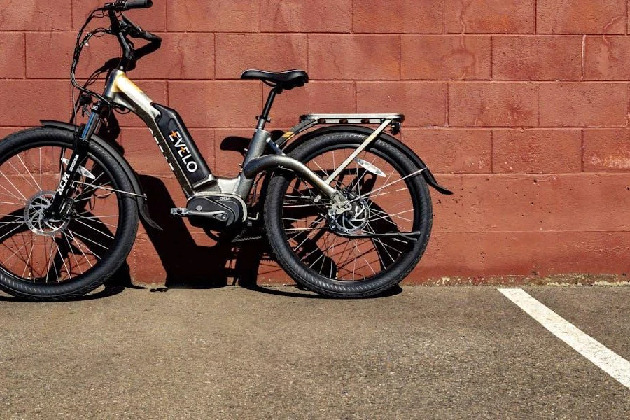
[[[303, 176], [304, 179], [311, 182], [311, 184], [318, 188], [324, 196], [330, 198], [333, 202], [336, 202], [339, 206], [337, 210], [341, 211], [341, 206], [345, 205], [346, 200], [343, 199], [335, 188], [330, 186], [330, 181], [334, 178], [335, 174], [342, 172], [345, 167], [350, 164], [353, 158], [363, 151], [372, 141], [374, 141], [374, 139], [376, 139], [386, 127], [392, 124], [400, 125], [403, 117], [398, 114], [370, 114], [365, 116], [351, 114], [349, 116], [345, 116], [354, 118], [358, 123], [373, 123], [374, 121], [378, 121], [380, 125], [377, 130], [374, 130], [372, 135], [365, 139], [363, 144], [357, 148], [355, 153], [353, 153], [342, 163], [342, 165], [335, 169], [334, 174], [331, 174], [331, 176], [328, 176], [328, 178], [324, 180], [301, 162], [284, 155], [280, 148], [274, 143], [274, 141], [272, 141], [271, 134], [265, 131], [265, 123], [269, 120], [269, 110], [271, 109], [275, 95], [276, 90], [273, 89], [269, 94], [269, 98], [265, 104], [265, 109], [262, 111], [262, 115], [258, 117], [258, 125], [256, 126], [255, 132], [250, 141], [248, 151], [242, 165], [244, 170], [235, 178], [221, 178], [214, 176], [209, 170], [207, 162], [204, 160], [202, 155], [195, 153], [195, 151], [197, 151], [195, 141], [192, 137], [186, 135], [186, 127], [183, 125], [181, 120], [179, 120], [179, 123], [183, 126], [182, 128], [184, 132], [172, 132], [169, 139], [167, 139], [164, 130], [160, 128], [158, 123], [162, 114], [160, 109], [165, 110], [166, 108], [160, 106], [159, 104], [155, 104], [150, 97], [148, 97], [137, 85], [132, 82], [132, 80], [130, 80], [130, 78], [127, 77], [124, 71], [116, 69], [111, 72], [103, 93], [103, 97], [108, 99], [110, 102], [124, 106], [126, 109], [130, 109], [130, 111], [137, 114], [137, 116], [144, 121], [149, 130], [151, 130], [153, 138], [160, 147], [160, 151], [162, 151], [162, 154], [165, 156], [187, 198], [190, 198], [193, 195], [204, 195], [204, 193], [220, 193], [235, 195], [245, 202], [248, 195], [251, 193], [253, 179], [256, 174], [265, 169], [283, 167], [297, 172]], [[104, 113], [105, 109], [106, 107], [102, 106], [102, 104], [97, 103], [94, 105], [92, 113], [90, 113], [87, 124], [80, 136], [81, 138], [89, 139], [92, 133], [97, 130], [97, 127], [101, 122], [102, 113]], [[344, 116], [341, 117], [342, 120], [344, 120]], [[369, 121], [367, 121], [366, 118]], [[311, 120], [310, 125], [314, 125], [318, 123], [318, 121], [324, 122], [322, 118], [318, 118], [317, 120]], [[304, 130], [304, 127], [305, 125], [302, 126], [301, 130]], [[297, 134], [297, 130], [288, 133]], [[283, 138], [284, 141], [286, 141], [286, 139], [288, 139], [287, 136]], [[276, 153], [276, 155], [263, 156], [267, 145]], [[179, 149], [174, 149], [172, 146], [177, 146]], [[186, 158], [188, 158], [188, 161]], [[204, 176], [203, 179], [197, 182], [190, 181], [190, 177], [187, 176], [187, 170], [190, 169], [190, 165], [197, 168], [208, 169], [207, 176]]]

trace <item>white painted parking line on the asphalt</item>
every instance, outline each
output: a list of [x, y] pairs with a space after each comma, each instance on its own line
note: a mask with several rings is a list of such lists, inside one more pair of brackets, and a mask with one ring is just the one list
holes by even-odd
[[610, 374], [626, 388], [630, 388], [630, 362], [628, 360], [608, 349], [593, 337], [584, 334], [575, 325], [528, 295], [525, 290], [498, 289], [498, 291], [538, 321], [540, 325], [547, 328], [549, 332], [566, 342], [577, 353]]

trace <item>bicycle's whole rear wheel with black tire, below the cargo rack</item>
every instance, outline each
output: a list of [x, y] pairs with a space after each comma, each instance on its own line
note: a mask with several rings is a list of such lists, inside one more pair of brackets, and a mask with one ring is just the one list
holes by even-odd
[[[290, 156], [326, 179], [365, 138], [325, 134]], [[276, 171], [265, 201], [276, 259], [297, 283], [322, 295], [367, 297], [397, 285], [430, 237], [433, 212], [421, 171], [377, 139], [330, 184], [351, 203], [343, 214], [332, 214], [330, 201], [292, 172]]]

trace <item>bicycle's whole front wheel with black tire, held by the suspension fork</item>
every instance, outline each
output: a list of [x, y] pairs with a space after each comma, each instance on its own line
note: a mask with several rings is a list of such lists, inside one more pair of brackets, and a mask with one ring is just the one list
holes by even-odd
[[52, 127], [0, 141], [0, 288], [29, 300], [89, 293], [123, 265], [138, 227], [123, 168], [98, 144], [69, 198], [68, 214], [45, 215], [73, 152], [73, 133]]

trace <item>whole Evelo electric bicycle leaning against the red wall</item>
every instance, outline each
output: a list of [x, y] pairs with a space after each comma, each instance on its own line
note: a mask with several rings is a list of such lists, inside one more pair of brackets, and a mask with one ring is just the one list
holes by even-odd
[[[265, 130], [274, 99], [309, 76], [247, 70], [241, 79], [265, 83], [269, 96], [239, 174], [215, 176], [179, 113], [153, 102], [127, 76], [161, 38], [123, 12], [151, 6], [151, 0], [117, 0], [89, 15], [71, 66], [80, 92], [73, 123], [42, 120], [0, 141], [0, 288], [38, 301], [85, 295], [123, 265], [139, 218], [160, 229], [137, 173], [116, 144], [99, 137], [115, 112], [134, 113], [146, 124], [179, 181], [187, 202], [172, 217], [231, 241], [247, 239], [259, 225], [281, 267], [321, 295], [367, 297], [405, 279], [430, 237], [428, 186], [451, 192], [393, 137], [404, 116], [309, 114], [274, 138]], [[94, 18], [109, 18], [109, 27], [87, 31]], [[105, 35], [116, 36], [122, 57], [98, 93], [90, 90], [96, 78], [81, 85], [75, 73], [88, 41]], [[135, 48], [130, 38], [146, 45]], [[78, 125], [80, 109], [89, 116]], [[199, 269], [206, 269], [202, 262]]]

